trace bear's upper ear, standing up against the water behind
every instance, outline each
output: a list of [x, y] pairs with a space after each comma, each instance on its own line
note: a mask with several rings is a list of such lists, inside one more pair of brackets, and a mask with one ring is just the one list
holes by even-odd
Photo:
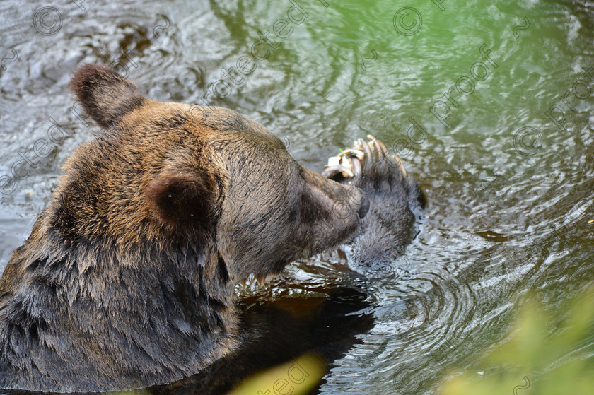
[[102, 64], [81, 66], [74, 72], [70, 89], [76, 93], [86, 113], [103, 128], [148, 101], [134, 83]]

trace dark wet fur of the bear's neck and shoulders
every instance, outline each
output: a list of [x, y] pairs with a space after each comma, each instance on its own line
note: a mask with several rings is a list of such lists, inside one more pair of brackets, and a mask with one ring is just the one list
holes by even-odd
[[0, 280], [0, 388], [146, 387], [236, 347], [233, 287], [208, 243], [75, 242], [38, 223]]

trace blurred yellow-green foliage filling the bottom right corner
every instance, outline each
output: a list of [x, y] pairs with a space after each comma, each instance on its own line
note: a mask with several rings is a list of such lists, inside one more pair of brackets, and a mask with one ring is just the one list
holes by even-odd
[[[450, 372], [443, 395], [594, 394], [594, 292], [549, 312], [534, 296], [519, 309], [509, 341], [477, 372]], [[478, 373], [481, 372], [481, 373]]]

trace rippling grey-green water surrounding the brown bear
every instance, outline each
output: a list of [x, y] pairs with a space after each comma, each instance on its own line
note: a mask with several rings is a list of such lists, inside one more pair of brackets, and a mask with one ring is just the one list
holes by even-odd
[[[206, 93], [314, 170], [374, 134], [419, 180], [429, 207], [402, 259], [363, 279], [337, 274], [345, 262], [328, 254], [263, 291], [351, 282], [368, 293], [375, 327], [323, 394], [432, 394], [448, 367], [472, 371], [503, 338], [528, 290], [554, 310], [592, 283], [594, 6], [324, 3], [298, 0], [305, 16], [289, 0], [0, 2], [0, 177], [11, 177], [0, 182], [0, 271], [59, 165], [98, 130], [69, 111], [66, 85], [78, 64], [100, 62], [157, 100], [202, 104]], [[245, 63], [259, 31], [262, 60]], [[238, 61], [255, 70], [238, 74]], [[38, 158], [48, 134], [54, 151]]]

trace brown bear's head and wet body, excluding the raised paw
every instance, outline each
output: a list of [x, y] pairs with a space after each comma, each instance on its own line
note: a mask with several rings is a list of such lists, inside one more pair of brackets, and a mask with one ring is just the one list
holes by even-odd
[[93, 64], [71, 89], [103, 131], [66, 161], [0, 279], [1, 389], [194, 375], [242, 342], [237, 283], [347, 240], [368, 210], [236, 112], [150, 100]]

